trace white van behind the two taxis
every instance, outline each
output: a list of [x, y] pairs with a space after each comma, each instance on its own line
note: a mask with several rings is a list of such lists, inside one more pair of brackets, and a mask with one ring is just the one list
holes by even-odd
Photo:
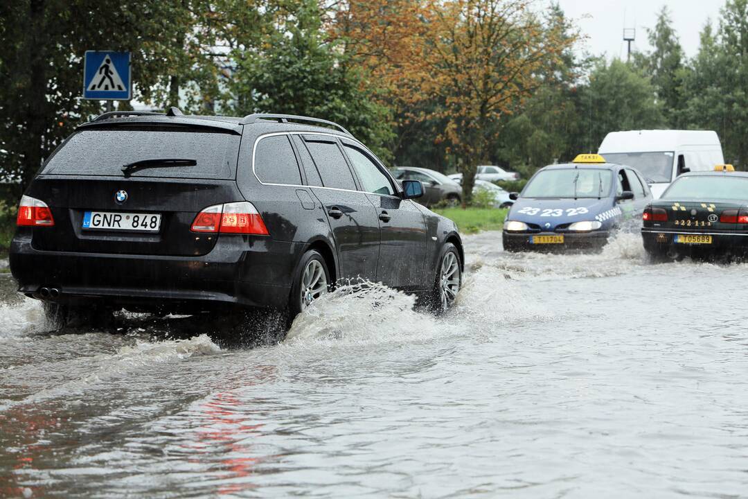
[[608, 162], [637, 168], [655, 199], [678, 175], [714, 170], [725, 162], [717, 132], [703, 130], [610, 132], [598, 153]]

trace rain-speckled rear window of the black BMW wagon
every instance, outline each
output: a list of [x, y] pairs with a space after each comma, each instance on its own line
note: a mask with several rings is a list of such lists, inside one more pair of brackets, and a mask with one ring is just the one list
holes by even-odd
[[49, 159], [45, 175], [123, 177], [123, 166], [153, 159], [194, 165], [148, 165], [132, 177], [233, 180], [241, 136], [222, 129], [108, 127], [82, 129]]

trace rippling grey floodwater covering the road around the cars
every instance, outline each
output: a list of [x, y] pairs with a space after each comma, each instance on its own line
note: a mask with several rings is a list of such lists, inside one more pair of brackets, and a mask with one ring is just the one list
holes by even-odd
[[0, 496], [748, 497], [748, 265], [466, 247], [446, 316], [336, 293], [254, 346], [46, 333], [0, 277]]

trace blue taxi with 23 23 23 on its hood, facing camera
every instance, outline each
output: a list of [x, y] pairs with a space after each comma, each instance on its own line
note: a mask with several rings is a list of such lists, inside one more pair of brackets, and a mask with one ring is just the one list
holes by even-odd
[[584, 250], [601, 248], [627, 221], [637, 224], [652, 193], [634, 168], [580, 154], [574, 162], [541, 168], [510, 198], [506, 251]]

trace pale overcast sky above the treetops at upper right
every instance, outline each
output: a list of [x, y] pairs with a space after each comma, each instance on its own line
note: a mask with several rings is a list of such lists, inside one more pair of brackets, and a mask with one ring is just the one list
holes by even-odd
[[[699, 32], [707, 19], [714, 24], [724, 0], [559, 0], [567, 16], [577, 19], [586, 48], [592, 55], [607, 54], [609, 58], [626, 57], [623, 28], [637, 28], [634, 49], [649, 50], [644, 28], [653, 28], [657, 12], [667, 5], [673, 26], [686, 55], [693, 56], [699, 49]], [[586, 17], [585, 17], [586, 16]]]

